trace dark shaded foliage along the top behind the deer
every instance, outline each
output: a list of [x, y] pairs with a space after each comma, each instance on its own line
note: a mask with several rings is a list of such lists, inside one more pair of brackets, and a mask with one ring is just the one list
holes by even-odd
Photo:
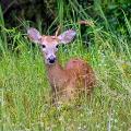
[[[131, 36], [124, 24], [126, 17], [131, 22], [130, 0], [1, 0], [1, 9], [4, 27], [19, 28], [23, 33], [28, 26], [34, 26], [45, 34], [52, 35], [58, 25], [66, 29], [64, 25], [68, 25], [68, 22], [90, 20], [96, 22], [99, 28], [129, 39]], [[70, 26], [72, 27], [69, 24], [68, 27]], [[90, 31], [92, 32], [92, 28], [85, 25], [80, 27], [86, 46], [94, 39]]]

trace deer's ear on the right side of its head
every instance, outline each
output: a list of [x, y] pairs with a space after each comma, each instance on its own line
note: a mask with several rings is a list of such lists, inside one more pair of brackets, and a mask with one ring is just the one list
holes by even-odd
[[69, 29], [69, 31], [63, 32], [61, 35], [59, 35], [58, 38], [60, 43], [68, 44], [74, 38], [75, 35], [76, 35], [75, 31]]

